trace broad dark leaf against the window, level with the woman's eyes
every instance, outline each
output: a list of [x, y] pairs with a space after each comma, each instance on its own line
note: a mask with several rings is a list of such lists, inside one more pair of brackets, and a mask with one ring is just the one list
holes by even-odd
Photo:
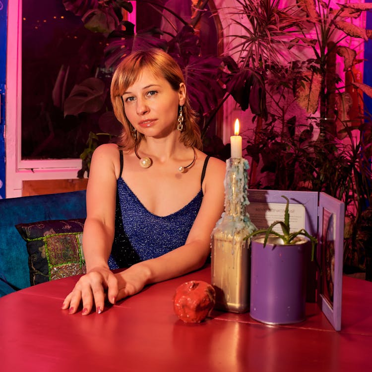
[[64, 116], [96, 113], [102, 108], [105, 98], [105, 83], [96, 77], [89, 77], [72, 88], [64, 101]]

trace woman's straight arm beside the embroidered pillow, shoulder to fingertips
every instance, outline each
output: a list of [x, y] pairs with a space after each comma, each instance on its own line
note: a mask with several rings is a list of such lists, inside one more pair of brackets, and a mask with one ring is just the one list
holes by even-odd
[[87, 274], [76, 283], [65, 298], [62, 309], [76, 312], [83, 302], [83, 314], [88, 314], [93, 302], [103, 310], [105, 290], [110, 288], [111, 301], [118, 293], [117, 279], [110, 271], [108, 258], [115, 231], [116, 180], [115, 161], [119, 159], [116, 145], [98, 147], [92, 156], [86, 193], [87, 218], [83, 232], [83, 250]]

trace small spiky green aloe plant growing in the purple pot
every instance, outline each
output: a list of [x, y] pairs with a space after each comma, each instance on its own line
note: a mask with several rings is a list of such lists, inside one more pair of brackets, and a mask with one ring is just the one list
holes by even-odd
[[[250, 233], [245, 239], [249, 239], [256, 235], [263, 235], [265, 234], [263, 240], [263, 247], [266, 247], [267, 241], [270, 236], [276, 236], [283, 241], [283, 245], [296, 245], [299, 242], [297, 239], [299, 236], [304, 236], [308, 238], [311, 242], [311, 261], [314, 259], [314, 251], [315, 245], [317, 243], [317, 239], [310, 235], [305, 229], [301, 229], [296, 232], [291, 232], [290, 225], [289, 225], [289, 199], [288, 197], [282, 195], [284, 199], [287, 200], [286, 208], [284, 211], [284, 221], [274, 221], [267, 229], [258, 229]], [[282, 234], [278, 233], [274, 230], [274, 227], [280, 225], [282, 229]]]

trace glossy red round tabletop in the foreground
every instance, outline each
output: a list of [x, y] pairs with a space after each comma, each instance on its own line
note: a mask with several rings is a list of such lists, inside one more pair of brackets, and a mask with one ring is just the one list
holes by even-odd
[[372, 283], [343, 278], [342, 329], [316, 304], [307, 319], [272, 326], [249, 313], [213, 311], [186, 324], [173, 311], [176, 288], [210, 282], [210, 267], [146, 287], [103, 313], [61, 310], [77, 277], [0, 299], [0, 371], [371, 371]]

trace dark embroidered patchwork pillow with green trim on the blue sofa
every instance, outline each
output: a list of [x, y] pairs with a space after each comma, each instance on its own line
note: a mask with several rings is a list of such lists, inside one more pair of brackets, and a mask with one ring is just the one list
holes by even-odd
[[84, 219], [17, 224], [26, 241], [31, 285], [86, 272], [82, 249]]

